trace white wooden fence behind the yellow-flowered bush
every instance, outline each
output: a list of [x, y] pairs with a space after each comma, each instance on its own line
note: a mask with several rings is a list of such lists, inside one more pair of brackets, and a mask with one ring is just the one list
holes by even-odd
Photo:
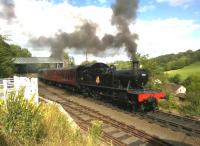
[[0, 98], [5, 100], [11, 92], [18, 92], [21, 87], [25, 88], [24, 96], [26, 99], [34, 96], [34, 102], [38, 103], [37, 78], [14, 76], [13, 78], [0, 79]]

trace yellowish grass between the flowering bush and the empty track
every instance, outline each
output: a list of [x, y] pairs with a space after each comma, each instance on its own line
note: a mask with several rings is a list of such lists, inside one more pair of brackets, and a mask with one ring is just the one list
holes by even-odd
[[61, 113], [55, 104], [45, 104], [44, 125], [46, 125], [47, 137], [42, 146], [70, 145], [70, 146], [98, 146], [102, 132], [102, 123], [92, 121], [87, 135], [83, 135], [79, 128], [73, 127], [72, 123]]

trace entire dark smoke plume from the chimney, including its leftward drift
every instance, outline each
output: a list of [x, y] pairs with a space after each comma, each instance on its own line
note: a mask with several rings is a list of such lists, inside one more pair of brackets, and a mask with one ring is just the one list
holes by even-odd
[[83, 25], [73, 33], [60, 32], [54, 37], [39, 37], [30, 40], [36, 47], [49, 46], [52, 57], [62, 58], [65, 48], [73, 48], [76, 51], [87, 50], [87, 53], [99, 55], [108, 48], [125, 47], [129, 57], [135, 59], [137, 34], [131, 33], [129, 24], [136, 17], [138, 0], [116, 0], [112, 10], [112, 25], [116, 26], [118, 33], [105, 34], [102, 39], [96, 35], [97, 25], [85, 21]]

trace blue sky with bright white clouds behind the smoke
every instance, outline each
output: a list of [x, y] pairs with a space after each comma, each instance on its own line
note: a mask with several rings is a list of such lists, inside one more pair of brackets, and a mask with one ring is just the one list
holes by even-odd
[[[110, 23], [115, 0], [0, 0], [0, 34], [26, 47], [33, 56], [47, 57], [49, 48], [34, 48], [29, 39], [53, 37], [62, 31], [72, 33], [82, 20], [97, 24], [97, 35], [115, 34]], [[137, 33], [137, 52], [150, 57], [200, 49], [199, 0], [140, 0], [137, 18], [129, 25]], [[105, 57], [88, 55], [89, 60], [113, 62], [129, 60], [123, 49], [107, 51]], [[84, 51], [75, 54], [76, 64], [85, 60]]]

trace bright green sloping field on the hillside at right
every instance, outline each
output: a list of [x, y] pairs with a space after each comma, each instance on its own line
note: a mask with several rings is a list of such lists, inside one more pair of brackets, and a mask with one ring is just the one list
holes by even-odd
[[200, 62], [193, 63], [189, 66], [177, 70], [170, 70], [166, 72], [169, 76], [174, 76], [175, 74], [180, 74], [182, 79], [187, 78], [191, 75], [200, 76]]

